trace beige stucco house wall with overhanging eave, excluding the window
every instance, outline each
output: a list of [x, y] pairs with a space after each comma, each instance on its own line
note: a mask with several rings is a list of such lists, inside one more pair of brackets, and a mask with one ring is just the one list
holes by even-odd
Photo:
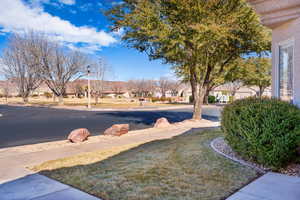
[[272, 29], [272, 95], [280, 97], [280, 46], [293, 44], [293, 103], [300, 106], [300, 0], [248, 0]]

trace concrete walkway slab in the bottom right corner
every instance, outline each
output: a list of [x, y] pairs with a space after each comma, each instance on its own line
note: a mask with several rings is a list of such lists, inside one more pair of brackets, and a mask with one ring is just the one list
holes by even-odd
[[300, 178], [269, 172], [226, 200], [299, 200]]

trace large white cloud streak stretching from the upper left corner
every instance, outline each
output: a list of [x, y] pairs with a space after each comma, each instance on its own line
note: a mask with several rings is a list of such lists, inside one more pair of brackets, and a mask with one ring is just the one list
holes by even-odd
[[[2, 27], [2, 30], [1, 30]], [[63, 43], [83, 43], [85, 46], [109, 46], [116, 39], [93, 27], [75, 26], [45, 12], [41, 7], [29, 7], [21, 0], [1, 0], [0, 31], [35, 30]]]

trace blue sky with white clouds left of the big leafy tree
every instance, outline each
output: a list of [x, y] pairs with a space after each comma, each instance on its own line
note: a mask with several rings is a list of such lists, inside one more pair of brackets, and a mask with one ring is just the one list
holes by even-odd
[[157, 79], [171, 76], [170, 66], [149, 61], [128, 49], [120, 32], [111, 33], [101, 10], [120, 0], [1, 0], [0, 54], [12, 32], [42, 31], [71, 49], [102, 56], [112, 66], [113, 80]]

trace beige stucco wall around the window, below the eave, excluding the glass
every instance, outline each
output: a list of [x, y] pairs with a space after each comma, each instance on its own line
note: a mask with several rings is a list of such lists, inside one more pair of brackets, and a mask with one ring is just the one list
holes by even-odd
[[272, 58], [273, 58], [273, 96], [279, 96], [278, 66], [279, 46], [285, 43], [294, 43], [294, 103], [300, 106], [300, 18], [284, 23], [273, 29]]

